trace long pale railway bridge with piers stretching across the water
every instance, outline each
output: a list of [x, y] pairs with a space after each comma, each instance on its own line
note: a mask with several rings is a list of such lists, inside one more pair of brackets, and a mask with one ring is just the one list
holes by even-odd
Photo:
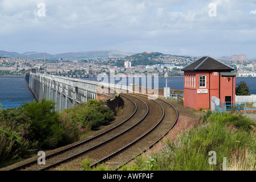
[[116, 89], [130, 90], [132, 86], [79, 78], [26, 73], [25, 80], [37, 101], [53, 100], [56, 110], [74, 107], [76, 103], [90, 99], [103, 100], [111, 107], [116, 104], [119, 92]]

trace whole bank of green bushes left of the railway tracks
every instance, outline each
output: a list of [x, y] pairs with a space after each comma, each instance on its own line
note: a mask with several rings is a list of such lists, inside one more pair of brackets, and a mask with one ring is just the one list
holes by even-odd
[[114, 118], [113, 111], [97, 100], [62, 113], [56, 112], [54, 101], [48, 100], [0, 109], [0, 167], [29, 158], [40, 150], [73, 143]]

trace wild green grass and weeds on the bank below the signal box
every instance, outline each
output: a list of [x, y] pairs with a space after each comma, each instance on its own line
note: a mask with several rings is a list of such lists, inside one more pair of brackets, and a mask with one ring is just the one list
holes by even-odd
[[[221, 171], [224, 158], [227, 170], [255, 170], [255, 122], [237, 114], [206, 114], [193, 129], [166, 141], [161, 152], [138, 157], [124, 169], [167, 171]], [[209, 164], [210, 151], [216, 152], [216, 164]]]

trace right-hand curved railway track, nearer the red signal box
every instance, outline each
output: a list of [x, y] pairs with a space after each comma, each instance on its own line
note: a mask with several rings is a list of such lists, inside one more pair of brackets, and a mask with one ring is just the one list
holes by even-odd
[[[141, 94], [133, 94], [139, 97], [148, 98], [147, 96], [142, 96]], [[155, 143], [159, 142], [164, 135], [166, 135], [172, 127], [177, 122], [178, 112], [175, 107], [161, 99], [155, 101], [157, 104], [161, 105], [163, 114], [159, 122], [152, 127], [151, 130], [147, 131], [140, 138], [136, 139], [132, 143], [128, 144], [124, 148], [121, 148], [119, 151], [115, 152], [112, 155], [107, 156], [91, 165], [91, 167], [97, 166], [99, 163], [105, 163], [108, 168], [118, 169], [124, 164], [127, 164], [136, 156], [145, 152], [148, 148], [152, 147]], [[161, 103], [161, 104], [160, 104]], [[165, 107], [165, 109], [164, 109]], [[168, 109], [169, 108], [169, 109]]]

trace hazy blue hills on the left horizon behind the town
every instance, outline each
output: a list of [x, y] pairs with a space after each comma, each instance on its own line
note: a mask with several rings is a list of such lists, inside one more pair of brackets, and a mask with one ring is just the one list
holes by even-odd
[[[51, 55], [46, 53], [46, 59], [48, 60], [56, 60], [62, 57], [64, 60], [71, 59], [104, 59], [109, 57], [125, 57], [131, 56], [134, 53], [124, 53], [121, 51], [110, 50], [110, 51], [89, 51], [89, 52], [67, 52], [67, 53], [59, 53], [56, 55]], [[0, 57], [21, 57], [23, 59], [44, 59], [44, 52], [25, 52], [25, 53], [17, 53], [17, 52], [7, 52], [0, 51]]]

